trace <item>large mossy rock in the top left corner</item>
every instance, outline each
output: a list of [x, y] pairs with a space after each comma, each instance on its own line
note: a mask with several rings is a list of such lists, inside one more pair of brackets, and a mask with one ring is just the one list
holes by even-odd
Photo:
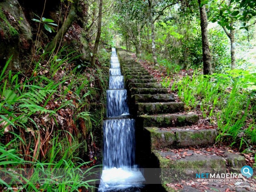
[[30, 52], [32, 33], [30, 25], [17, 0], [0, 2], [0, 66], [12, 56], [9, 69], [20, 70], [20, 60]]

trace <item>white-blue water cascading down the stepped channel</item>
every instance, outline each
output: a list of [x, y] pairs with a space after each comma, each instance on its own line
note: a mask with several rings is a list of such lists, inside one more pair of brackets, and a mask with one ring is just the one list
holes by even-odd
[[135, 120], [129, 119], [127, 91], [115, 48], [112, 48], [107, 90], [107, 119], [103, 123], [103, 170], [100, 192], [140, 188], [145, 178], [135, 164]]

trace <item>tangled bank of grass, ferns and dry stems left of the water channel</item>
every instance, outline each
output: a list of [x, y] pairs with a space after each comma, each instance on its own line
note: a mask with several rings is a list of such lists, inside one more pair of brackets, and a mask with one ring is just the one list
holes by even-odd
[[7, 72], [11, 58], [2, 69], [0, 183], [8, 188], [78, 191], [94, 181], [87, 179], [90, 169], [82, 170], [88, 162], [76, 157], [86, 153], [77, 142], [80, 132], [80, 140], [90, 134], [77, 120], [88, 125], [92, 120], [87, 112], [91, 76], [76, 67], [70, 54], [63, 48], [50, 60], [41, 55], [30, 76]]

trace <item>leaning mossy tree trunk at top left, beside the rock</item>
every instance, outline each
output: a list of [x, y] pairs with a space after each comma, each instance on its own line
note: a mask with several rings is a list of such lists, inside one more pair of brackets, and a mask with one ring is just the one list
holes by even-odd
[[79, 2], [79, 0], [74, 0], [73, 1], [72, 6], [71, 6], [70, 11], [69, 11], [69, 14], [67, 15], [67, 19], [64, 21], [60, 30], [57, 32], [54, 39], [49, 44], [49, 46], [46, 50], [47, 52], [52, 51], [53, 49], [56, 48], [57, 45], [59, 45], [59, 43], [61, 43], [62, 37], [66, 34], [69, 27], [72, 25], [74, 19], [76, 18], [76, 13], [77, 13], [77, 9], [78, 9], [78, 2]]

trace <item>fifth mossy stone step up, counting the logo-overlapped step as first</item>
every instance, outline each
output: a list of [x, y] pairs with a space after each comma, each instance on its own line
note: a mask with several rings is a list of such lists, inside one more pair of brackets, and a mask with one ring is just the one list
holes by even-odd
[[135, 103], [175, 101], [174, 94], [136, 94], [131, 96], [131, 100]]

